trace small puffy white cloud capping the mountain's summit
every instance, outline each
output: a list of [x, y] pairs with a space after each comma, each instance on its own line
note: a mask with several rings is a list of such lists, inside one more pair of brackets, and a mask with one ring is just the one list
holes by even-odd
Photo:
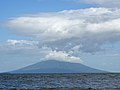
[[45, 60], [59, 60], [66, 62], [82, 63], [79, 57], [71, 56], [65, 51], [51, 51], [46, 55]]

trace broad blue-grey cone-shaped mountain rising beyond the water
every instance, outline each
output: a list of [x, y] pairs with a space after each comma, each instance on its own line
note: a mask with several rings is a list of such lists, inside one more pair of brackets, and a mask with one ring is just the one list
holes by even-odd
[[103, 72], [105, 71], [94, 69], [80, 63], [64, 62], [58, 60], [45, 60], [12, 71], [11, 73], [103, 73]]

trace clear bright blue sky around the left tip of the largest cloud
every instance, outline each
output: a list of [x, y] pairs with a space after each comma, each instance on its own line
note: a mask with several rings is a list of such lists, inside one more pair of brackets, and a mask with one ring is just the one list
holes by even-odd
[[[41, 12], [56, 12], [61, 10], [79, 9], [91, 7], [89, 4], [78, 4], [69, 0], [1, 0], [0, 21], [4, 23], [10, 18]], [[93, 6], [92, 6], [93, 7]], [[10, 33], [1, 28], [0, 41], [7, 39], [22, 39], [22, 37]]]

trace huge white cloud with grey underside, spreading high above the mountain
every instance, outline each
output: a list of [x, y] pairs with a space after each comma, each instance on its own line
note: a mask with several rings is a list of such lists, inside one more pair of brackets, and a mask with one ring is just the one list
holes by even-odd
[[7, 27], [19, 35], [39, 41], [39, 48], [99, 52], [103, 45], [120, 41], [120, 9], [88, 8], [22, 16]]

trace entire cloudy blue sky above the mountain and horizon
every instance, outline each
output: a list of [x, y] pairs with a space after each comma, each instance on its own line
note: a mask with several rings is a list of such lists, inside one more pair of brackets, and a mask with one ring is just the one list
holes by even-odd
[[0, 0], [0, 72], [51, 59], [120, 72], [120, 0]]

